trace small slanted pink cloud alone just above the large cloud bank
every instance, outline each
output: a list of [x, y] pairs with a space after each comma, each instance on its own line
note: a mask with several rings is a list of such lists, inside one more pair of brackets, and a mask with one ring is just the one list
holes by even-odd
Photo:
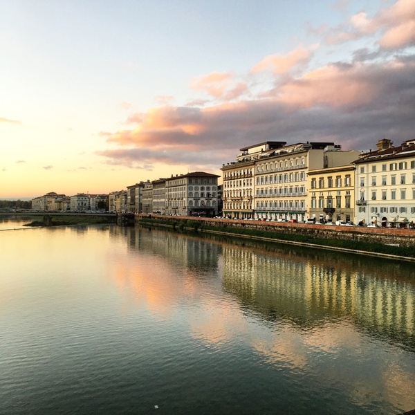
[[253, 73], [272, 71], [276, 75], [290, 72], [297, 66], [308, 64], [313, 54], [300, 45], [286, 55], [268, 55], [252, 68]]

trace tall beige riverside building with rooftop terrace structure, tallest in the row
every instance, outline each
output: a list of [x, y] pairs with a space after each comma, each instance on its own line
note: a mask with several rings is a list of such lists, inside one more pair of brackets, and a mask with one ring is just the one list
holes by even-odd
[[242, 148], [236, 162], [221, 168], [224, 216], [305, 221], [308, 171], [339, 164], [343, 158], [340, 149], [333, 142], [286, 145], [279, 141]]

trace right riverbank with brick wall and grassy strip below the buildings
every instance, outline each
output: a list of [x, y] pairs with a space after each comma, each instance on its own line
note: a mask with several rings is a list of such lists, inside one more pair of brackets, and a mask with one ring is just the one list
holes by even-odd
[[415, 261], [414, 230], [163, 215], [136, 215], [136, 221], [141, 225], [228, 234], [235, 237]]

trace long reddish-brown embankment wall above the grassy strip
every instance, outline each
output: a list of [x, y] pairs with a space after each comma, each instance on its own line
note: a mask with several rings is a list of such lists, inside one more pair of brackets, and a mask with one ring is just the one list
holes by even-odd
[[[217, 228], [246, 228], [251, 230], [279, 232], [285, 234], [300, 234], [310, 238], [343, 239], [346, 241], [362, 241], [368, 243], [383, 243], [385, 245], [408, 246], [415, 248], [415, 230], [395, 228], [366, 228], [360, 226], [309, 225], [308, 223], [286, 223], [268, 221], [241, 221], [235, 219], [197, 218], [187, 216], [136, 215], [140, 218], [165, 221], [166, 225], [174, 225], [181, 221], [199, 221], [201, 225]], [[222, 229], [223, 230], [223, 229]]]

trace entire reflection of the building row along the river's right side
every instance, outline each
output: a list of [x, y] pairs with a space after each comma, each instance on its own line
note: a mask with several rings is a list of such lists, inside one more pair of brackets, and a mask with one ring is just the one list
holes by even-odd
[[257, 241], [111, 228], [130, 250], [150, 252], [196, 279], [216, 275], [242, 308], [300, 329], [347, 318], [371, 335], [415, 346], [410, 263]]

